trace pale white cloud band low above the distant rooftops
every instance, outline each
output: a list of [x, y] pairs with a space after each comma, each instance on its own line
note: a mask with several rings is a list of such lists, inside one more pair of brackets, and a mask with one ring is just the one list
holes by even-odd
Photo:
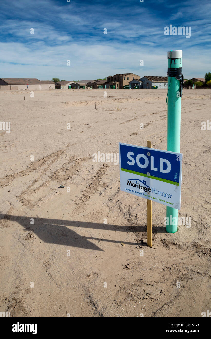
[[[16, 58], [12, 56], [14, 48], [18, 51]], [[1, 43], [0, 49], [6, 55], [0, 63], [1, 77], [32, 77], [51, 79], [58, 76], [60, 79], [98, 78], [114, 73], [134, 72], [143, 75], [166, 75], [167, 49], [148, 46], [142, 48], [128, 44], [127, 49], [122, 44], [111, 43], [109, 49], [106, 44], [83, 46], [81, 44], [64, 44], [46, 47], [37, 43], [37, 51], [31, 51], [29, 46], [16, 43]], [[193, 57], [194, 53], [194, 57]], [[210, 57], [202, 56], [201, 51], [194, 48], [183, 51], [183, 73], [185, 77], [204, 76], [205, 69], [210, 67]], [[67, 66], [67, 59], [71, 65]], [[144, 66], [140, 66], [144, 60]], [[16, 64], [13, 64], [13, 63]], [[23, 63], [25, 63], [23, 65]]]

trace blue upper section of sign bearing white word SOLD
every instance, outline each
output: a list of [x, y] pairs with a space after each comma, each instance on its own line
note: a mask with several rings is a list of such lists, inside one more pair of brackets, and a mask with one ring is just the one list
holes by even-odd
[[176, 183], [180, 181], [180, 156], [175, 153], [120, 144], [120, 154], [122, 169]]

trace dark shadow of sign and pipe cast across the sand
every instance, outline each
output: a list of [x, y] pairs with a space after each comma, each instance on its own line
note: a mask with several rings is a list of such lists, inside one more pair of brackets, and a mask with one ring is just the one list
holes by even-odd
[[[34, 224], [30, 224], [31, 218], [32, 217], [0, 214], [0, 219], [2, 221], [9, 220], [10, 222], [18, 222], [21, 226], [25, 227], [27, 231], [34, 232], [45, 243], [72, 247], [81, 247], [89, 250], [102, 252], [104, 251], [99, 246], [93, 244], [89, 240], [97, 240], [111, 243], [124, 242], [125, 245], [139, 245], [140, 242], [126, 242], [124, 241], [124, 237], [120, 241], [117, 241], [110, 239], [81, 236], [76, 232], [77, 231], [76, 228], [84, 227], [104, 231], [133, 232], [133, 233], [146, 232], [146, 225], [120, 226], [120, 225], [101, 224], [84, 221], [48, 219], [39, 217], [33, 218]], [[156, 226], [154, 227], [157, 228], [158, 230], [158, 227]], [[72, 228], [74, 228], [74, 230], [72, 230]], [[156, 231], [153, 233], [156, 233]], [[159, 231], [165, 233], [166, 232], [165, 227], [159, 227]]]

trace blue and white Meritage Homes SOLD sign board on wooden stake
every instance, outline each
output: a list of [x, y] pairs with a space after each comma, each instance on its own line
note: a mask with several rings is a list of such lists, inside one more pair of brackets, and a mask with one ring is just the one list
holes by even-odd
[[120, 189], [180, 210], [181, 153], [119, 143]]

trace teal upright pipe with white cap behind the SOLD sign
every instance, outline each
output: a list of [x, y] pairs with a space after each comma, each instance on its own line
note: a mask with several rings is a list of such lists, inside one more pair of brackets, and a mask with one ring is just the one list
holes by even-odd
[[[167, 151], [176, 153], [180, 153], [181, 82], [177, 78], [180, 77], [178, 76], [179, 74], [182, 74], [182, 57], [183, 51], [174, 49], [171, 50], [170, 52], [167, 52], [168, 58]], [[166, 217], [167, 220], [169, 220], [169, 225], [166, 225], [166, 232], [175, 233], [177, 231], [178, 210], [166, 206]]]

